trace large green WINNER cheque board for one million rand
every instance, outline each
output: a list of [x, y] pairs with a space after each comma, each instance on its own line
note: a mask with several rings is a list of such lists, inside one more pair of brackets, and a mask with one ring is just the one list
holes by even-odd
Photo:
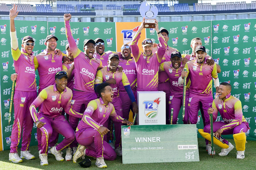
[[199, 161], [196, 125], [122, 126], [122, 152], [123, 164]]

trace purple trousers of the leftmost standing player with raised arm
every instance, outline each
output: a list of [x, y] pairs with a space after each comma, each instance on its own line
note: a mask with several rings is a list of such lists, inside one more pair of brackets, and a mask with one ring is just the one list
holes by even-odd
[[[37, 91], [18, 91], [14, 92], [14, 123], [12, 126], [10, 152], [17, 153], [18, 145], [22, 132], [22, 151], [29, 150], [33, 119], [30, 115], [29, 107], [37, 98]], [[23, 130], [22, 130], [23, 129]]]

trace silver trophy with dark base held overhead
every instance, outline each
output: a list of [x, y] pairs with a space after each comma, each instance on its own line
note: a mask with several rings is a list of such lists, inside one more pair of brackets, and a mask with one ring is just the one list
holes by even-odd
[[145, 0], [140, 5], [140, 15], [145, 17], [144, 28], [155, 28], [155, 18], [158, 14], [158, 9], [155, 5], [150, 5]]

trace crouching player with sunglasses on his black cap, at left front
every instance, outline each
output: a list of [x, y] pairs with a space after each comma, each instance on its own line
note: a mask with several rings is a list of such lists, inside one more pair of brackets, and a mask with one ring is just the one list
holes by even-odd
[[[67, 148], [75, 139], [74, 130], [65, 116], [61, 115], [62, 110], [65, 109], [67, 114], [77, 118], [82, 118], [83, 116], [71, 109], [72, 90], [66, 87], [68, 82], [67, 74], [66, 71], [57, 72], [55, 75], [56, 84], [43, 89], [29, 108], [35, 125], [37, 125], [42, 133], [42, 150], [40, 150], [41, 152], [39, 151], [40, 165], [48, 165], [48, 142], [51, 139], [53, 129], [65, 137], [59, 145], [51, 149], [51, 153], [55, 156], [56, 160], [64, 160], [61, 151]], [[35, 108], [41, 104], [42, 107], [37, 113]]]

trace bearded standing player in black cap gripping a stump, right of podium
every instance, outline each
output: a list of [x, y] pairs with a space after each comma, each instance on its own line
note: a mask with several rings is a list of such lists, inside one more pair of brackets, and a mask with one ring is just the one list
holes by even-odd
[[191, 124], [197, 123], [197, 115], [200, 104], [203, 107], [205, 117], [205, 123], [209, 124], [210, 119], [207, 113], [207, 109], [211, 106], [212, 98], [212, 78], [216, 86], [216, 94], [218, 93], [218, 74], [216, 70], [216, 64], [210, 66], [205, 61], [204, 46], [196, 47], [196, 59], [186, 63], [184, 68], [187, 68], [187, 72], [182, 71], [179, 78], [179, 84], [183, 84], [184, 76], [190, 76], [190, 92], [188, 101], [188, 117]]

